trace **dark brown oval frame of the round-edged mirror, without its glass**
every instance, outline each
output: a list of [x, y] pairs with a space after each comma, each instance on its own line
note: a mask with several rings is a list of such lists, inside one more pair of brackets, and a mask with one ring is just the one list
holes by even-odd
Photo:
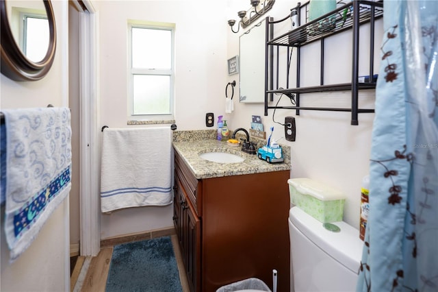
[[[43, 0], [49, 22], [49, 45], [47, 53], [40, 61], [28, 58], [17, 45], [12, 33], [11, 21], [8, 18], [6, 0], [0, 0], [1, 25], [1, 73], [15, 81], [36, 81], [47, 75], [55, 58], [56, 25], [50, 0]], [[14, 3], [14, 1], [12, 1]]]

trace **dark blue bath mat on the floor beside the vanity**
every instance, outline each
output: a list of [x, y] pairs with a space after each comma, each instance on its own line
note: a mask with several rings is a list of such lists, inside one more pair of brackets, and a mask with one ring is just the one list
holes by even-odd
[[170, 236], [114, 246], [107, 292], [182, 292]]

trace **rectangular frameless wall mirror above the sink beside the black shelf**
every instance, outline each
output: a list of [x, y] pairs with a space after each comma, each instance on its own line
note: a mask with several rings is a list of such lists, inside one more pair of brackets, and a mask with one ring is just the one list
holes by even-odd
[[240, 36], [240, 102], [265, 101], [265, 20]]

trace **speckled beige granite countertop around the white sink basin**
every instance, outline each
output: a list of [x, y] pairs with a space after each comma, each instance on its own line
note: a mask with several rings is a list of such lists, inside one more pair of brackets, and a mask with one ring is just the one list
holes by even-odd
[[[268, 163], [265, 160], [260, 160], [257, 155], [246, 154], [241, 151], [241, 147], [233, 147], [227, 141], [218, 141], [214, 137], [216, 131], [211, 130], [199, 131], [177, 131], [173, 136], [173, 147], [190, 167], [194, 176], [197, 179], [203, 178], [218, 178], [229, 175], [242, 175], [250, 173], [263, 173], [270, 171], [290, 170], [290, 147], [283, 147], [283, 163]], [[257, 147], [266, 144], [264, 140], [250, 138], [251, 142], [257, 142]], [[221, 151], [235, 154], [244, 158], [243, 162], [237, 163], [218, 163], [204, 160], [199, 157], [199, 154]]]

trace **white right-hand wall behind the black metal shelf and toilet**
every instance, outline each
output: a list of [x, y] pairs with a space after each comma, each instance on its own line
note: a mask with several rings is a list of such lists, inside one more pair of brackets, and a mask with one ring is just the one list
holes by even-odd
[[[248, 1], [249, 2], [249, 1]], [[274, 20], [283, 19], [296, 6], [298, 1], [276, 1], [269, 16]], [[229, 19], [237, 19], [237, 11], [249, 8], [248, 3], [229, 0]], [[258, 21], [257, 21], [258, 22]], [[226, 26], [223, 23], [222, 26]], [[281, 25], [279, 25], [281, 26]], [[283, 29], [279, 34], [287, 32], [290, 27], [289, 21], [285, 21]], [[376, 27], [376, 34], [383, 36], [381, 21]], [[235, 29], [237, 28], [237, 25]], [[246, 30], [244, 30], [246, 31]], [[365, 34], [368, 29], [361, 29], [361, 55], [368, 51], [368, 42]], [[228, 48], [227, 58], [239, 54], [239, 36], [243, 34], [242, 29], [237, 34], [233, 34], [228, 29]], [[279, 36], [276, 34], [276, 36]], [[368, 36], [368, 34], [366, 35]], [[381, 37], [376, 38], [375, 49], [375, 73], [378, 72], [378, 53]], [[367, 45], [364, 45], [366, 43]], [[319, 82], [319, 42], [302, 49], [302, 86], [318, 85]], [[350, 82], [351, 80], [351, 34], [343, 33], [326, 41], [326, 83]], [[281, 59], [285, 60], [285, 59]], [[363, 65], [363, 66], [362, 66]], [[361, 71], [359, 75], [368, 75], [368, 66], [361, 57]], [[294, 66], [291, 69], [295, 71]], [[284, 79], [284, 78], [283, 78]], [[238, 84], [238, 75], [231, 75], [227, 78], [229, 82], [235, 80]], [[285, 82], [280, 86], [285, 87]], [[261, 82], [255, 80], [255, 82]], [[359, 105], [373, 108], [374, 90], [368, 93], [360, 93]], [[319, 95], [301, 95], [301, 106], [350, 106], [350, 93], [322, 93]], [[239, 97], [239, 90], [236, 86], [235, 97]], [[274, 106], [279, 97], [274, 97]], [[274, 110], [268, 110], [268, 117], [263, 117], [263, 104], [239, 104], [235, 102], [235, 111], [226, 114], [225, 118], [229, 121], [229, 127], [250, 126], [252, 114], [262, 116], [263, 124], [267, 129], [274, 126], [274, 139], [284, 137], [284, 127], [272, 122]], [[291, 106], [289, 99], [283, 97], [279, 105]], [[284, 123], [286, 116], [296, 118], [296, 141], [289, 142], [285, 139], [279, 140], [280, 143], [289, 145], [292, 148], [292, 178], [307, 177], [330, 184], [347, 195], [344, 208], [344, 221], [359, 229], [359, 204], [361, 200], [361, 180], [368, 174], [370, 160], [372, 121], [374, 114], [359, 114], [359, 125], [350, 125], [350, 113], [346, 112], [320, 112], [320, 111], [300, 111], [296, 116], [294, 110], [276, 110], [275, 121]], [[287, 194], [285, 194], [287, 195]]]

